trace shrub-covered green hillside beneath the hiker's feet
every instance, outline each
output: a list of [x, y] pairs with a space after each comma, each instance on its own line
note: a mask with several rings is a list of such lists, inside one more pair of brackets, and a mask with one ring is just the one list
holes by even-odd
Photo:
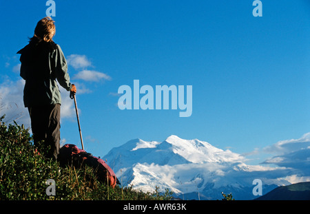
[[[32, 144], [32, 136], [23, 125], [6, 125], [0, 118], [0, 200], [169, 200], [166, 191], [136, 191], [132, 186], [112, 189], [97, 180], [90, 167], [60, 167], [44, 158], [45, 149]], [[55, 181], [56, 195], [47, 195]]]

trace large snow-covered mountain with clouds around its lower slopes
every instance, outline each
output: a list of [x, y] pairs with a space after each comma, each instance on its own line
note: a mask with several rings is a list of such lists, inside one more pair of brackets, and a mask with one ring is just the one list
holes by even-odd
[[106, 156], [123, 186], [153, 192], [169, 189], [184, 200], [220, 200], [221, 192], [233, 193], [236, 200], [251, 200], [255, 185], [262, 181], [265, 194], [280, 185], [290, 184], [286, 167], [247, 165], [238, 153], [218, 149], [201, 140], [169, 136], [163, 142], [130, 140]]

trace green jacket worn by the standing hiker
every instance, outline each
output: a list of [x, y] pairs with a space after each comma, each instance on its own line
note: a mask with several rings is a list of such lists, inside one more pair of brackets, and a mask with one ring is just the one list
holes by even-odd
[[54, 42], [47, 43], [34, 38], [17, 54], [21, 54], [20, 75], [25, 80], [25, 107], [61, 104], [61, 93], [56, 80], [67, 91], [72, 88], [61, 47]]

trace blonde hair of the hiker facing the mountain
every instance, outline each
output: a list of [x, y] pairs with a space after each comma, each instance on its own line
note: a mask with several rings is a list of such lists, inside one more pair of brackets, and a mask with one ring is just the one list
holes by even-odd
[[[34, 37], [46, 42], [52, 41], [52, 38], [56, 32], [54, 21], [51, 17], [44, 17], [38, 23], [34, 29]], [[32, 39], [34, 38], [32, 37]], [[31, 40], [31, 39], [30, 39]]]

